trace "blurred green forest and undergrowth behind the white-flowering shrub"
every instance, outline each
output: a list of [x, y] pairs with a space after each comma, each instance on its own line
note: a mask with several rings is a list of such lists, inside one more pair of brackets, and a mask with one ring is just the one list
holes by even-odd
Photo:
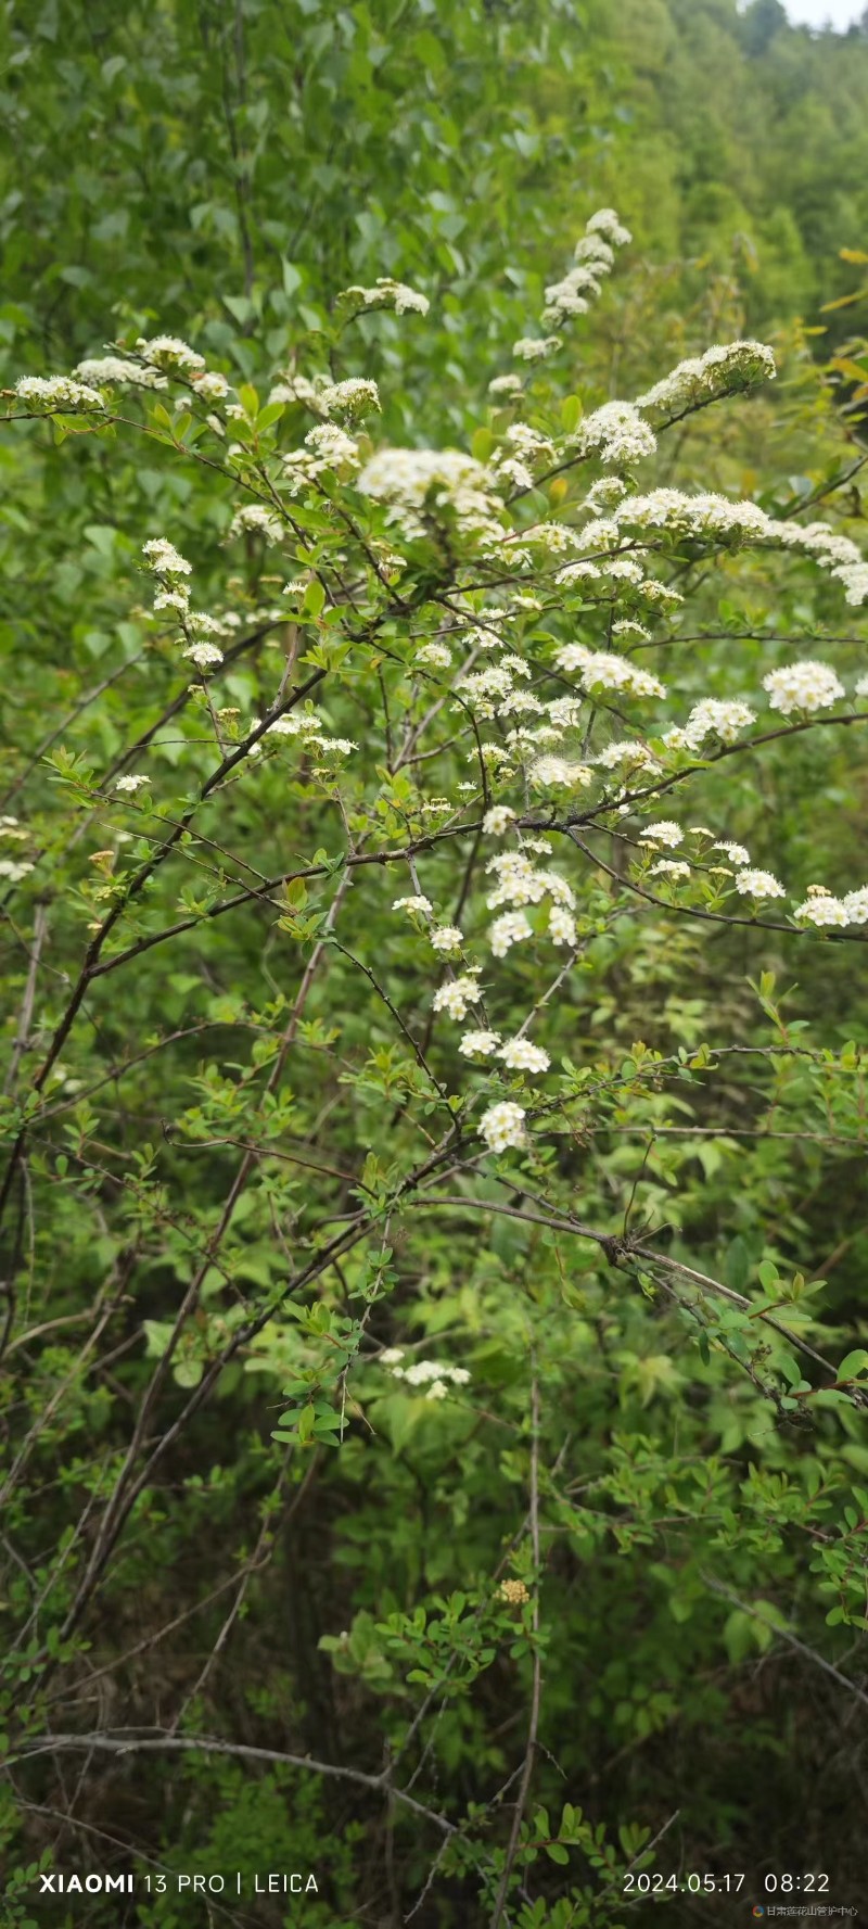
[[[380, 380], [384, 440], [424, 442], [430, 434], [465, 446], [486, 407], [488, 382], [503, 367], [503, 343], [525, 334], [588, 214], [611, 204], [635, 245], [631, 274], [594, 318], [583, 351], [600, 399], [638, 392], [710, 341], [739, 334], [773, 341], [787, 368], [781, 394], [752, 405], [743, 422], [727, 417], [719, 426], [716, 411], [702, 419], [683, 451], [685, 473], [712, 488], [756, 488], [775, 513], [789, 513], [795, 500], [853, 469], [843, 503], [851, 534], [864, 538], [868, 15], [851, 33], [833, 35], [791, 27], [777, 0], [752, 0], [745, 10], [735, 0], [154, 0], [149, 8], [46, 0], [10, 6], [2, 33], [6, 392], [21, 374], [68, 370], [108, 341], [156, 332], [183, 336], [262, 386], [264, 370], [295, 368], [297, 343], [326, 326], [338, 289], [392, 274], [424, 291], [430, 318], [407, 332], [392, 318], [365, 318], [351, 372]], [[583, 378], [577, 359], [575, 384]], [[137, 644], [135, 625], [125, 629], [129, 559], [147, 534], [164, 530], [204, 569], [226, 519], [218, 492], [197, 496], [183, 467], [158, 455], [133, 459], [120, 440], [69, 436], [58, 448], [39, 426], [4, 434], [0, 482], [2, 775], [10, 795], [23, 785], [41, 835], [62, 862], [64, 801], [41, 760], [68, 741], [79, 691], [102, 687], [102, 679], [106, 698], [85, 748], [96, 762], [118, 754], [125, 718], [112, 677]], [[260, 590], [253, 556], [239, 571], [247, 567], [251, 594], [276, 594]], [[745, 623], [748, 631], [762, 627], [758, 596], [735, 608], [706, 602], [704, 627], [712, 617], [733, 637]], [[820, 635], [826, 615], [822, 602], [799, 590], [785, 608], [800, 638]], [[149, 702], [150, 693], [139, 693], [137, 731], [150, 720]], [[293, 804], [303, 808], [297, 797]], [[808, 882], [812, 868], [851, 882], [864, 864], [864, 777], [843, 754], [824, 766], [820, 781], [810, 754], [799, 750], [760, 797], [766, 860], [777, 868], [787, 849]], [[14, 808], [25, 818], [21, 797]], [[2, 939], [10, 1049], [27, 984], [15, 916], [6, 912]], [[264, 941], [262, 926], [231, 936], [220, 926], [206, 966], [214, 1009], [230, 992], [251, 1005], [266, 997]], [[584, 1009], [577, 1003], [577, 1026], [581, 1020], [608, 1036], [615, 1063], [644, 1036], [642, 1026], [654, 1030], [648, 1009], [658, 1001], [665, 1003], [667, 1036], [689, 1049], [714, 1036], [721, 1015], [733, 1036], [791, 1040], [808, 1013], [824, 1047], [858, 1046], [868, 1015], [860, 957], [856, 945], [802, 947], [795, 972], [781, 947], [770, 951], [754, 934], [733, 932], [714, 951], [700, 951], [683, 928], [667, 936], [652, 920], [637, 951], [633, 934], [617, 932], [600, 947], [590, 992], [577, 993], [586, 999]], [[746, 992], [766, 968], [777, 972], [777, 993], [789, 993], [799, 978], [787, 1005], [791, 1032], [775, 1032], [773, 982], [760, 1001]], [[60, 957], [58, 970], [73, 970], [69, 957]], [[197, 941], [166, 970], [170, 976], [160, 976], [160, 963], [143, 961], [125, 1011], [106, 1007], [104, 1038], [89, 1036], [81, 1047], [93, 1053], [89, 1073], [98, 1071], [100, 1053], [112, 1063], [127, 1026], [149, 1036], [156, 1019], [187, 1022], [201, 972]], [[68, 1061], [83, 1073], [64, 1051]], [[197, 1067], [193, 1040], [183, 1076], [199, 1076]], [[172, 1105], [149, 1067], [137, 1094], [154, 1117]], [[388, 1084], [384, 1094], [392, 1103]], [[311, 1074], [311, 1111], [316, 1098]], [[735, 1157], [727, 1125], [735, 1128], [754, 1098], [756, 1086], [739, 1086], [733, 1073], [721, 1101], [721, 1144], [708, 1144], [702, 1161], [671, 1169], [681, 1190], [675, 1219], [689, 1231], [685, 1252], [727, 1265], [733, 1289], [746, 1285], [750, 1265], [770, 1248], [791, 1265], [806, 1262], [810, 1275], [826, 1262], [831, 1331], [858, 1339], [868, 1263], [862, 1121], [849, 1121], [847, 1150], [835, 1144], [827, 1107], [826, 1146], [775, 1157], [758, 1140], [741, 1144]], [[816, 1094], [791, 1084], [793, 1119], [806, 1136], [818, 1123], [814, 1101]], [[133, 1128], [127, 1121], [120, 1130]], [[338, 1163], [355, 1150], [351, 1128], [341, 1130], [343, 1140], [324, 1138]], [[73, 1150], [85, 1140], [98, 1144], [89, 1119], [77, 1121], [77, 1134]], [[635, 1169], [615, 1140], [600, 1161], [604, 1196], [621, 1213]], [[222, 1196], [218, 1161], [197, 1163], [195, 1177], [193, 1163], [177, 1155], [170, 1171], [176, 1206], [208, 1213]], [[567, 1181], [573, 1184], [569, 1173]], [[41, 1314], [39, 1298], [33, 1302], [37, 1331], [58, 1304], [69, 1321], [77, 1318], [95, 1291], [95, 1254], [110, 1267], [125, 1250], [108, 1206], [100, 1217], [102, 1206], [91, 1200], [93, 1213], [89, 1204], [81, 1217], [81, 1200], [64, 1204], [60, 1188], [48, 1190], [37, 1252], [54, 1298], [50, 1316]], [[662, 1217], [665, 1190], [648, 1190], [644, 1204]], [[492, 1790], [507, 1784], [521, 1759], [529, 1645], [519, 1636], [507, 1647], [515, 1632], [507, 1620], [492, 1663], [476, 1636], [463, 1632], [463, 1615], [480, 1572], [500, 1572], [521, 1528], [529, 1395], [513, 1373], [527, 1350], [519, 1302], [536, 1263], [544, 1283], [546, 1265], [556, 1281], [554, 1260], [530, 1254], [523, 1229], [515, 1240], [511, 1231], [500, 1227], [490, 1246], [467, 1225], [457, 1244], [430, 1231], [407, 1275], [390, 1275], [393, 1327], [378, 1329], [401, 1345], [405, 1310], [407, 1321], [432, 1335], [434, 1350], [444, 1333], [471, 1335], [478, 1370], [490, 1373], [492, 1404], [513, 1427], [507, 1449], [482, 1416], [473, 1431], [436, 1441], [422, 1429], [413, 1454], [403, 1422], [382, 1414], [393, 1453], [386, 1451], [376, 1470], [363, 1439], [339, 1454], [320, 1443], [312, 1454], [282, 1460], [270, 1437], [282, 1377], [268, 1377], [268, 1362], [260, 1362], [260, 1372], [231, 1381], [222, 1402], [203, 1410], [168, 1483], [145, 1495], [125, 1559], [91, 1620], [48, 1655], [31, 1580], [39, 1591], [81, 1495], [98, 1495], [89, 1470], [100, 1453], [112, 1460], [120, 1451], [118, 1414], [143, 1385], [145, 1356], [141, 1346], [122, 1346], [120, 1364], [87, 1389], [81, 1383], [64, 1404], [60, 1389], [68, 1375], [75, 1379], [73, 1343], [58, 1331], [44, 1345], [23, 1343], [12, 1352], [2, 1408], [10, 1458], [21, 1420], [25, 1429], [39, 1420], [42, 1431], [33, 1485], [15, 1491], [6, 1528], [14, 1555], [6, 1547], [2, 1607], [15, 1628], [29, 1630], [27, 1640], [10, 1644], [10, 1732], [31, 1703], [39, 1732], [42, 1694], [48, 1728], [58, 1732], [64, 1694], [75, 1721], [81, 1688], [91, 1701], [108, 1696], [106, 1707], [95, 1703], [98, 1717], [81, 1703], [87, 1723], [150, 1726], [176, 1719], [181, 1705], [179, 1736], [193, 1723], [201, 1734], [311, 1753], [361, 1777], [380, 1775], [390, 1752], [409, 1746], [420, 1800], [453, 1817], [476, 1815], [492, 1844], [496, 1881], [507, 1825], [500, 1825], [505, 1809]], [[19, 1252], [19, 1233], [12, 1248]], [[139, 1308], [152, 1345], [170, 1318], [172, 1279], [154, 1271]], [[507, 1294], [494, 1337], [488, 1312], [478, 1316], [492, 1281]], [[812, 1495], [820, 1493], [820, 1514], [806, 1522], [789, 1485], [799, 1441], [770, 1441], [766, 1454], [754, 1453], [739, 1416], [723, 1395], [718, 1399], [714, 1375], [673, 1370], [667, 1343], [650, 1350], [646, 1308], [635, 1316], [646, 1319], [638, 1339], [638, 1327], [615, 1335], [606, 1329], [596, 1275], [588, 1271], [563, 1291], [554, 1316], [540, 1312], [550, 1321], [540, 1343], [550, 1348], [546, 1453], [557, 1466], [577, 1429], [586, 1460], [581, 1445], [577, 1464], [569, 1462], [581, 1518], [563, 1495], [550, 1495], [561, 1541], [534, 1780], [536, 1838], [527, 1836], [525, 1887], [503, 1919], [513, 1929], [613, 1929], [650, 1919], [652, 1900], [633, 1896], [627, 1908], [613, 1885], [664, 1829], [658, 1865], [667, 1871], [721, 1879], [731, 1869], [760, 1877], [770, 1867], [829, 1869], [833, 1900], [864, 1906], [864, 1518], [847, 1487], [868, 1474], [858, 1416], [843, 1424], [843, 1451], [841, 1439], [820, 1441]], [[610, 1348], [621, 1373], [611, 1400], [592, 1375], [577, 1381], [573, 1373], [575, 1318], [584, 1337], [596, 1333], [604, 1354]], [[141, 1339], [141, 1319], [137, 1333]], [[617, 1346], [635, 1350], [627, 1356]], [[696, 1470], [710, 1470], [710, 1485], [694, 1514]], [[583, 1501], [594, 1480], [602, 1483], [598, 1514]], [[864, 1489], [862, 1501], [868, 1507]], [[853, 1520], [847, 1516], [853, 1539], [839, 1555], [833, 1537], [845, 1508], [854, 1508]], [[692, 1522], [685, 1564], [667, 1539], [679, 1514]], [[820, 1539], [810, 1532], [816, 1518], [826, 1520]], [[827, 1572], [816, 1582], [824, 1532]], [[708, 1570], [723, 1572], [723, 1593], [706, 1586]], [[220, 1588], [233, 1572], [247, 1574], [243, 1599], [226, 1649], [203, 1676], [214, 1642], [224, 1642], [235, 1595]], [[824, 1593], [826, 1582], [831, 1593]], [[841, 1597], [851, 1589], [851, 1607], [841, 1613], [837, 1584]], [[183, 1622], [176, 1638], [156, 1640], [156, 1630], [193, 1611], [201, 1595], [210, 1599], [212, 1589], [214, 1605]], [[762, 1599], [760, 1622], [745, 1611], [745, 1597]], [[777, 1626], [799, 1628], [795, 1645], [777, 1638]], [[839, 1682], [799, 1651], [799, 1638], [856, 1684], [856, 1698], [841, 1698]], [[444, 1694], [434, 1734], [413, 1755], [401, 1721], [415, 1703], [401, 1699], [395, 1674], [403, 1680], [413, 1667], [409, 1678], [426, 1696], [448, 1651], [461, 1657], [453, 1667], [463, 1692]], [[66, 1682], [62, 1692], [58, 1680]], [[60, 1707], [50, 1699], [58, 1694]], [[459, 1929], [498, 1919], [473, 1858], [463, 1860], [453, 1844], [451, 1860], [432, 1873], [436, 1833], [424, 1819], [372, 1800], [361, 1782], [216, 1755], [139, 1755], [131, 1769], [98, 1755], [83, 1765], [48, 1753], [17, 1761], [6, 1788], [4, 1929], [31, 1921], [52, 1929], [83, 1921], [95, 1929], [187, 1929], [226, 1917], [260, 1929], [395, 1929], [407, 1919], [419, 1929]], [[312, 1867], [322, 1887], [291, 1908], [285, 1898], [268, 1898], [237, 1914], [230, 1904], [145, 1890], [123, 1906], [98, 1896], [39, 1902], [37, 1863], [81, 1871]], [[679, 1925], [748, 1915], [746, 1890], [739, 1900], [718, 1888], [714, 1904], [681, 1892], [664, 1902], [669, 1915], [654, 1919]]]

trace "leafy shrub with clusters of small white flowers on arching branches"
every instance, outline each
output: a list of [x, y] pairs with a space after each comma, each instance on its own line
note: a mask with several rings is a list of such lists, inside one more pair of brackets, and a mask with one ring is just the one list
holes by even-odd
[[[810, 490], [772, 513], [669, 482], [675, 424], [758, 405], [764, 343], [708, 349], [635, 399], [598, 399], [590, 376], [569, 392], [569, 332], [629, 241], [613, 210], [588, 220], [467, 446], [453, 426], [415, 446], [413, 422], [392, 440], [388, 368], [345, 372], [378, 316], [428, 326], [426, 297], [390, 278], [338, 295], [328, 338], [260, 388], [160, 334], [25, 376], [8, 407], [14, 436], [37, 421], [23, 436], [75, 438], [52, 461], [147, 449], [183, 482], [112, 536], [98, 594], [120, 666], [69, 679], [35, 789], [25, 768], [0, 824], [21, 947], [4, 1345], [37, 1368], [33, 1410], [17, 1385], [10, 1408], [14, 1534], [58, 1412], [71, 1443], [60, 1555], [12, 1589], [14, 1763], [135, 1750], [141, 1726], [208, 1755], [212, 1674], [276, 1524], [314, 1478], [338, 1507], [374, 1462], [378, 1505], [355, 1530], [343, 1501], [330, 1514], [359, 1605], [311, 1667], [326, 1655], [330, 1682], [378, 1698], [388, 1767], [318, 1759], [303, 1732], [274, 1761], [386, 1798], [415, 1831], [407, 1906], [440, 1881], [494, 1925], [613, 1925], [660, 1827], [646, 1784], [613, 1817], [619, 1848], [611, 1817], [530, 1821], [546, 1721], [559, 1755], [571, 1705], [542, 1694], [569, 1562], [635, 1576], [610, 1572], [588, 1622], [611, 1636], [588, 1719], [615, 1709], [625, 1748], [677, 1713], [638, 1663], [637, 1699], [623, 1674], [640, 1589], [667, 1630], [691, 1626], [685, 1694], [691, 1640], [739, 1667], [777, 1634], [787, 1651], [791, 1613], [820, 1611], [820, 1642], [824, 1618], [864, 1626], [868, 1352], [847, 1319], [820, 1331], [816, 1256], [831, 1269], [835, 1238], [810, 1223], [810, 1184], [785, 1213], [793, 1144], [818, 1188], [824, 1157], [862, 1148], [862, 1059], [791, 1017], [768, 953], [789, 970], [789, 947], [822, 947], [822, 984], [866, 941], [868, 883], [816, 882], [799, 839], [777, 855], [764, 785], [866, 721], [847, 637], [814, 652], [864, 606], [868, 565], [835, 476], [816, 492], [835, 523], [799, 521]], [[793, 579], [797, 656], [773, 619]], [[716, 629], [710, 583], [743, 584], [752, 619], [723, 598]], [[833, 866], [833, 835], [820, 849]], [[714, 995], [712, 939], [731, 947]], [[681, 1437], [667, 1402], [687, 1383]], [[206, 1476], [185, 1454], [230, 1410], [258, 1537], [166, 1734], [137, 1713], [123, 1603], [150, 1586], [154, 1535], [172, 1564], [189, 1522], [220, 1516], [222, 1443]], [[436, 1561], [382, 1539], [417, 1462], [457, 1535]], [[814, 1535], [810, 1574], [793, 1526]], [[488, 1732], [488, 1674], [509, 1665], [529, 1715], [502, 1827], [513, 1757]], [[96, 1732], [106, 1674], [125, 1715]], [[579, 1860], [536, 1908], [540, 1848]], [[349, 1877], [341, 1894], [349, 1912]]]

